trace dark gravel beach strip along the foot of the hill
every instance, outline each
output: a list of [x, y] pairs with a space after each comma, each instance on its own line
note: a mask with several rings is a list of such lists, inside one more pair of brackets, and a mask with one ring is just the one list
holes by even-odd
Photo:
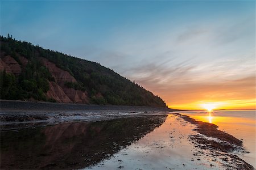
[[88, 105], [42, 101], [0, 100], [0, 111], [180, 111], [177, 109], [126, 105]]

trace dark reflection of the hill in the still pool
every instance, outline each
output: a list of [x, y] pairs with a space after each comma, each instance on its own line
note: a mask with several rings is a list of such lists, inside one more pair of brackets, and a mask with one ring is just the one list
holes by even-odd
[[96, 164], [163, 124], [166, 116], [72, 122], [1, 132], [1, 169], [77, 169]]

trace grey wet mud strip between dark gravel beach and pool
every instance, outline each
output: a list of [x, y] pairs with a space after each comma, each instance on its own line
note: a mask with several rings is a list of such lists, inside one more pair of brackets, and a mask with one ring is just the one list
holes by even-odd
[[64, 122], [95, 122], [115, 118], [141, 117], [166, 114], [165, 111], [22, 111], [1, 112], [0, 130], [54, 126]]

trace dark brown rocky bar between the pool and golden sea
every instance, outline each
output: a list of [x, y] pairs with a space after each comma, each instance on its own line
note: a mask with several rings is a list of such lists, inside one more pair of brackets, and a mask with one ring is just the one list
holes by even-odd
[[[246, 153], [246, 149], [243, 147], [243, 141], [240, 141], [233, 135], [225, 133], [224, 131], [218, 130], [218, 126], [208, 122], [197, 121], [194, 118], [191, 118], [185, 114], [173, 113], [176, 116], [183, 118], [184, 121], [187, 121], [193, 125], [196, 125], [194, 129], [199, 134], [190, 135], [190, 139], [196, 147], [201, 150], [210, 150], [208, 154], [212, 155], [215, 158], [218, 155], [224, 155], [222, 158], [223, 162], [229, 164], [236, 164], [237, 167], [230, 167], [228, 164], [224, 164], [227, 168], [239, 168], [239, 169], [249, 169], [254, 170], [255, 168], [245, 160], [239, 158], [235, 151]], [[215, 153], [214, 153], [214, 152]], [[200, 155], [201, 152], [197, 152], [195, 155]], [[212, 159], [216, 161], [216, 159]]]

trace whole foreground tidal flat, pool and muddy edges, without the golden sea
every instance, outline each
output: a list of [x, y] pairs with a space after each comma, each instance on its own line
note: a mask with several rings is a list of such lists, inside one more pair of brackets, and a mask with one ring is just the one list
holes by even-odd
[[254, 169], [241, 159], [242, 141], [203, 134], [181, 114], [65, 111], [15, 122], [20, 113], [3, 113], [2, 120], [10, 114], [1, 124], [1, 169]]

